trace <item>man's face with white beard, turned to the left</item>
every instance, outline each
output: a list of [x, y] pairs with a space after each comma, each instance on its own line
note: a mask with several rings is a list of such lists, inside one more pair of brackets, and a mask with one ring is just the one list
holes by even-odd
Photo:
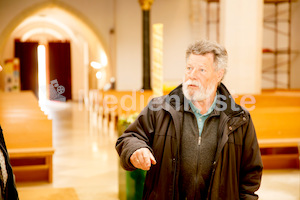
[[212, 53], [190, 55], [183, 83], [183, 93], [186, 98], [192, 101], [203, 101], [216, 92], [223, 71], [215, 71], [213, 64], [214, 55]]

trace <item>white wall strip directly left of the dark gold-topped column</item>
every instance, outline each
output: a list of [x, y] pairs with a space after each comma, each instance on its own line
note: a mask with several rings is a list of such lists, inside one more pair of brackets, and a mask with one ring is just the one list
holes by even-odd
[[138, 1], [116, 1], [116, 87], [142, 87], [142, 11]]

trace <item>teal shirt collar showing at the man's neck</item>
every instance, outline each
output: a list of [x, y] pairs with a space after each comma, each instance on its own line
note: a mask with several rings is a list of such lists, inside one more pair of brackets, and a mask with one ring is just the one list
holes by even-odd
[[212, 103], [212, 105], [210, 106], [210, 108], [208, 109], [208, 111], [205, 114], [202, 115], [201, 114], [201, 110], [198, 109], [191, 101], [189, 101], [191, 109], [192, 109], [192, 111], [194, 112], [194, 114], [195, 114], [195, 116], [197, 118], [199, 136], [201, 136], [201, 134], [202, 134], [202, 130], [203, 130], [203, 126], [204, 126], [205, 120], [208, 118], [208, 116], [210, 115], [210, 113], [216, 107], [216, 103], [217, 103], [217, 94], [215, 96], [214, 102]]

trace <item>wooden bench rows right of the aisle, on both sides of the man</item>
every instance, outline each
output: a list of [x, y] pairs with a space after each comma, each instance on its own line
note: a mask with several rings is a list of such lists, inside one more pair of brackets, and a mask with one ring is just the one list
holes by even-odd
[[[92, 99], [92, 106], [115, 108], [116, 118], [140, 112], [152, 96], [152, 91], [111, 90], [97, 93], [94, 95], [98, 95], [97, 98]], [[237, 103], [241, 104], [241, 100], [246, 101], [245, 107], [248, 109], [254, 106], [250, 113], [265, 169], [299, 169], [300, 91], [265, 91], [260, 95], [235, 96]]]

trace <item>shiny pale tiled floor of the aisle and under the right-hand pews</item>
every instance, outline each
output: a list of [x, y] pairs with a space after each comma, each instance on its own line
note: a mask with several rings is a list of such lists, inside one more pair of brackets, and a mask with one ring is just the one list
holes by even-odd
[[[117, 134], [111, 128], [90, 125], [88, 112], [76, 103], [51, 103], [47, 108], [53, 119], [56, 149], [53, 183], [17, 187], [72, 187], [80, 200], [118, 199]], [[299, 170], [264, 171], [258, 194], [262, 200], [299, 200]]]

